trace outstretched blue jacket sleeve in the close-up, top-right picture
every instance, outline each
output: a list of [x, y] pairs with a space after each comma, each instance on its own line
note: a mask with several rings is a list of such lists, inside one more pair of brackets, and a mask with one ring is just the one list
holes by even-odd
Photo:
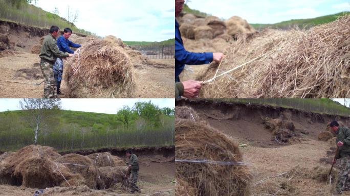
[[213, 61], [213, 53], [191, 53], [185, 50], [180, 40], [175, 39], [175, 59], [187, 65], [203, 65]]

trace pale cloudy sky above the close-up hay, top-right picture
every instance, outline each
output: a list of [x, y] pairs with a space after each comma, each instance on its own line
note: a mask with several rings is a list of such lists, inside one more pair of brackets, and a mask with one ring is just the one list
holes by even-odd
[[187, 5], [224, 19], [240, 16], [249, 23], [276, 23], [350, 11], [350, 0], [190, 0]]

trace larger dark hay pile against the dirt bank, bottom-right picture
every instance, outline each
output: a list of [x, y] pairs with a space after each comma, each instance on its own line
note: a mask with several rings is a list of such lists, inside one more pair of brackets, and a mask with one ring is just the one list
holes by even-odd
[[264, 125], [266, 129], [270, 130], [271, 134], [278, 142], [300, 141], [300, 130], [295, 129], [292, 120], [266, 118], [264, 119]]

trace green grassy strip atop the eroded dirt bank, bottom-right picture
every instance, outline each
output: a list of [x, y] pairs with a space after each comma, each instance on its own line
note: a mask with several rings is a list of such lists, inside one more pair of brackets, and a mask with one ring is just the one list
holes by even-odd
[[[211, 99], [215, 100], [215, 99]], [[331, 99], [221, 99], [227, 102], [251, 103], [260, 105], [279, 106], [310, 111], [321, 114], [334, 114], [350, 116], [350, 108]]]

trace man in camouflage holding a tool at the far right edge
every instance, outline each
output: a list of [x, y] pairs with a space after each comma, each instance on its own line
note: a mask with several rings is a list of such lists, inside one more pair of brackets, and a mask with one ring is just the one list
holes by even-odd
[[[335, 194], [342, 194], [343, 190], [350, 190], [350, 129], [340, 127], [337, 121], [330, 124], [332, 132], [337, 135], [338, 153], [336, 159], [340, 159], [339, 177], [335, 188]], [[336, 162], [336, 159], [333, 162]]]

